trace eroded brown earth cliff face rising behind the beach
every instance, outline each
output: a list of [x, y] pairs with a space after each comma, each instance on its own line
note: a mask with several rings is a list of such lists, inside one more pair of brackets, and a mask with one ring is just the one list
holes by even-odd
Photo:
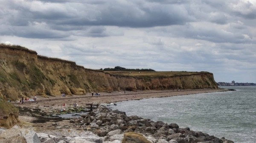
[[24, 48], [0, 46], [0, 95], [17, 99], [33, 95], [83, 95], [119, 90], [218, 88], [208, 72], [166, 78], [116, 76], [86, 69], [75, 62], [38, 56]]

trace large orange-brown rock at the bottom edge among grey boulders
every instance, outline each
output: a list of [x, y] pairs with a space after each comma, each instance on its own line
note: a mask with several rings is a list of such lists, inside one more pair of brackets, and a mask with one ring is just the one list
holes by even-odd
[[151, 142], [139, 133], [127, 132], [124, 134], [122, 143], [151, 143]]

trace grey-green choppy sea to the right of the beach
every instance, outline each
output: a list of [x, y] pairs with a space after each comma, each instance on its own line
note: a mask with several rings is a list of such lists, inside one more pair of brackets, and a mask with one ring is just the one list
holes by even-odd
[[256, 143], [256, 87], [219, 88], [236, 91], [122, 101], [111, 108], [235, 143]]

